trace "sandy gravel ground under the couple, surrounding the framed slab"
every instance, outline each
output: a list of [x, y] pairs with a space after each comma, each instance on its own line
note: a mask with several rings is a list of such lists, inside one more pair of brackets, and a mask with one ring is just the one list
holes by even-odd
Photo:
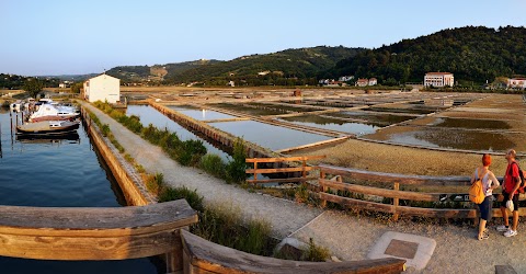
[[[500, 225], [500, 219], [496, 222]], [[317, 244], [329, 247], [343, 261], [364, 260], [387, 231], [412, 233], [436, 241], [435, 251], [423, 271], [407, 273], [494, 273], [494, 265], [508, 264], [517, 273], [526, 273], [524, 255], [526, 230], [519, 224], [518, 235], [506, 238], [490, 224], [490, 239], [476, 239], [477, 230], [469, 226], [433, 225], [426, 222], [388, 222], [369, 217], [350, 216], [328, 210], [307, 227], [293, 235], [302, 241], [313, 238]]]

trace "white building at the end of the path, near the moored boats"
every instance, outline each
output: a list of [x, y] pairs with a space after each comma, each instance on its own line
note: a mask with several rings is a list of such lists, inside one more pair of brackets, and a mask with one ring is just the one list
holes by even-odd
[[88, 102], [116, 103], [121, 100], [121, 79], [106, 73], [93, 77], [84, 82], [84, 99]]

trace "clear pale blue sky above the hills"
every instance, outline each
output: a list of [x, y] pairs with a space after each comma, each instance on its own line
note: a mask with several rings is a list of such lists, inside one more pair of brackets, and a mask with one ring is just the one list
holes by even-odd
[[0, 73], [377, 48], [466, 25], [525, 26], [524, 0], [0, 0]]

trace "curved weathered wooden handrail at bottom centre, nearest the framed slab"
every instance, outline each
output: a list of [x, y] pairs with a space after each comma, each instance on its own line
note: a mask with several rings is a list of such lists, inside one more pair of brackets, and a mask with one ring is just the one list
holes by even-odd
[[401, 273], [404, 260], [299, 262], [249, 254], [181, 231], [185, 273]]

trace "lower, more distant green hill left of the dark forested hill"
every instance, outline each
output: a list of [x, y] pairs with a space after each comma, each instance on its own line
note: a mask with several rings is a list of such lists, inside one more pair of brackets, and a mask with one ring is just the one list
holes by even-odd
[[205, 82], [224, 85], [235, 81], [242, 85], [316, 84], [316, 76], [336, 61], [353, 57], [364, 48], [318, 46], [286, 49], [266, 55], [250, 55], [178, 71], [167, 77], [169, 83]]

